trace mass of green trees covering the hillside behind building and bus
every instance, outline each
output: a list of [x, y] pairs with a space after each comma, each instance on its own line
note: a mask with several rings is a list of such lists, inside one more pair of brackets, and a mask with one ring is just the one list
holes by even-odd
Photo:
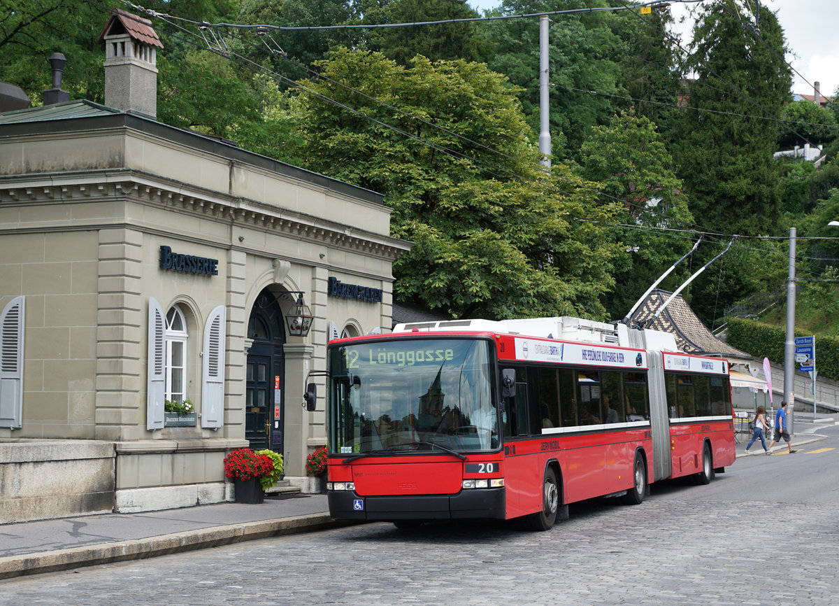
[[[191, 20], [283, 27], [476, 14], [468, 0], [165, 4]], [[711, 324], [753, 290], [783, 285], [783, 251], [749, 236], [783, 237], [789, 225], [818, 232], [836, 210], [839, 105], [790, 103], [783, 31], [768, 10], [758, 32], [753, 3], [704, 3], [690, 54], [677, 60], [668, 12], [627, 6], [499, 0], [492, 11], [618, 9], [550, 18], [550, 175], [535, 145], [538, 18], [220, 27], [227, 50], [208, 48], [190, 21], [179, 29], [153, 18], [164, 41], [158, 119], [382, 192], [393, 235], [415, 243], [394, 267], [397, 297], [458, 316], [620, 317], [699, 232], [706, 241], [696, 259], [664, 288], [741, 234], [685, 292]], [[80, 0], [5, 0], [3, 8], [4, 81], [39, 104], [50, 86], [47, 59], [60, 51], [70, 97], [104, 102], [96, 39], [107, 10]], [[773, 159], [779, 145], [806, 141], [825, 144], [826, 159]], [[830, 247], [801, 250], [815, 258]]]

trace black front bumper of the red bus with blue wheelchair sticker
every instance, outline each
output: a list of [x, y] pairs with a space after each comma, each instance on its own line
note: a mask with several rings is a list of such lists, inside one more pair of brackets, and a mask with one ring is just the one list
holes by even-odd
[[362, 497], [352, 491], [330, 491], [329, 515], [336, 520], [503, 520], [504, 488], [476, 488], [457, 494]]

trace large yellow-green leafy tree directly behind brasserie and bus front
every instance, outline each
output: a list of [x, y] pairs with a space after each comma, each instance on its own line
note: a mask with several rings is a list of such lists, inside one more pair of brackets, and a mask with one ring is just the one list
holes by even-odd
[[305, 165], [382, 192], [393, 235], [414, 243], [394, 264], [399, 300], [455, 316], [605, 318], [615, 245], [600, 225], [614, 209], [562, 165], [539, 170], [503, 76], [462, 60], [417, 57], [406, 68], [349, 50], [319, 68], [368, 97], [325, 79], [305, 86], [401, 131], [322, 97], [292, 104]]

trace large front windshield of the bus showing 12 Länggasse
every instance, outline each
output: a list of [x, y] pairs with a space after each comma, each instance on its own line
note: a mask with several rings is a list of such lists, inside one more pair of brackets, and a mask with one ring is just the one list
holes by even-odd
[[498, 448], [493, 368], [485, 339], [393, 339], [331, 347], [330, 452]]

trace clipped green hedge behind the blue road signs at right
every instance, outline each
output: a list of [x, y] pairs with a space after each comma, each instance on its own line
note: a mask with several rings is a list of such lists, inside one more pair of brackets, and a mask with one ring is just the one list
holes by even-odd
[[[795, 331], [796, 337], [812, 333]], [[758, 360], [769, 358], [784, 363], [786, 329], [743, 318], [728, 318], [727, 343], [752, 354]], [[795, 364], [796, 371], [798, 364]], [[820, 377], [839, 380], [839, 338], [816, 335], [816, 370]]]

